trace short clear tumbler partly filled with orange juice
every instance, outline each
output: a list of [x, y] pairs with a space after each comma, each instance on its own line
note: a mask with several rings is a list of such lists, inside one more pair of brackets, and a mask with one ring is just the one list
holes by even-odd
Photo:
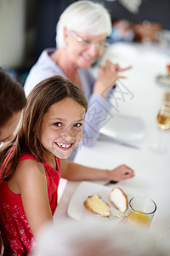
[[129, 201], [127, 223], [149, 228], [155, 212], [155, 201], [145, 196], [134, 196]]

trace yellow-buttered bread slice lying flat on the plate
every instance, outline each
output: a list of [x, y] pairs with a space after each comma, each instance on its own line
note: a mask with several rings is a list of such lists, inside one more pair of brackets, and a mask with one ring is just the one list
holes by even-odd
[[88, 199], [84, 201], [84, 207], [86, 207], [88, 211], [99, 214], [100, 216], [111, 215], [111, 206], [99, 195], [89, 195]]

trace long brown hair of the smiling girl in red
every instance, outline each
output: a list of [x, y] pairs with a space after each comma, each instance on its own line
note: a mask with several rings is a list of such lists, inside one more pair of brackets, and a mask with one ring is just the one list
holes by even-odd
[[[39, 140], [42, 118], [50, 106], [66, 97], [72, 98], [87, 111], [88, 102], [82, 91], [69, 79], [56, 75], [42, 80], [31, 90], [17, 136], [0, 150], [0, 167], [4, 165], [2, 179], [8, 180], [13, 176], [21, 154], [33, 154], [37, 160], [43, 161], [44, 148]], [[12, 148], [13, 153], [8, 158]]]

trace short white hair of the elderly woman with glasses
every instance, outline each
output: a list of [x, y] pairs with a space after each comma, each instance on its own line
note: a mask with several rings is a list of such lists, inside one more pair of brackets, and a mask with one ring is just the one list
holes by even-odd
[[107, 9], [91, 1], [78, 1], [60, 15], [56, 26], [57, 48], [65, 48], [64, 28], [96, 36], [111, 34], [111, 17]]

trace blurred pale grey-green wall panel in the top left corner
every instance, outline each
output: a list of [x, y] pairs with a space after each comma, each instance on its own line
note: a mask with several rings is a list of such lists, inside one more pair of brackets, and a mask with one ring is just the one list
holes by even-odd
[[25, 55], [25, 6], [23, 0], [0, 0], [0, 65], [21, 65]]

